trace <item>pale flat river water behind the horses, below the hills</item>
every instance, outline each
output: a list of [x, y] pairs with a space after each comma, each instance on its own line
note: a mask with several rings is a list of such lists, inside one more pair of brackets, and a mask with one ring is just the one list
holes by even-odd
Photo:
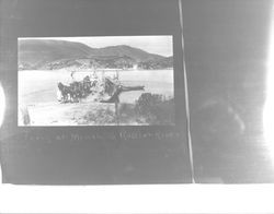
[[[73, 78], [81, 81], [92, 72], [79, 71]], [[115, 76], [116, 71], [98, 73], [102, 76]], [[119, 81], [125, 86], [144, 85], [145, 91], [125, 92], [121, 95], [122, 103], [134, 103], [141, 93], [162, 94], [165, 97], [174, 96], [173, 70], [132, 70], [119, 71]], [[56, 102], [57, 83], [69, 84], [72, 81], [70, 72], [66, 70], [25, 70], [19, 71], [19, 100], [26, 105]]]

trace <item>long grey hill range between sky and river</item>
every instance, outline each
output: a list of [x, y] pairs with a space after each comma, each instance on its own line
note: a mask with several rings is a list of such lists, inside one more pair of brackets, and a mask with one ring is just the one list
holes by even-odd
[[[145, 61], [167, 64], [168, 58], [126, 45], [91, 48], [81, 43], [54, 39], [20, 39], [19, 69], [60, 69], [70, 66], [101, 68], [130, 68]], [[172, 62], [173, 63], [173, 62]]]

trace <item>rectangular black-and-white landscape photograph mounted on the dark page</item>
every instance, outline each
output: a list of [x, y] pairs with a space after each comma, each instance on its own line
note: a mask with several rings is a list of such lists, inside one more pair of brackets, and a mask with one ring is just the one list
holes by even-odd
[[19, 126], [174, 124], [172, 36], [18, 39]]

